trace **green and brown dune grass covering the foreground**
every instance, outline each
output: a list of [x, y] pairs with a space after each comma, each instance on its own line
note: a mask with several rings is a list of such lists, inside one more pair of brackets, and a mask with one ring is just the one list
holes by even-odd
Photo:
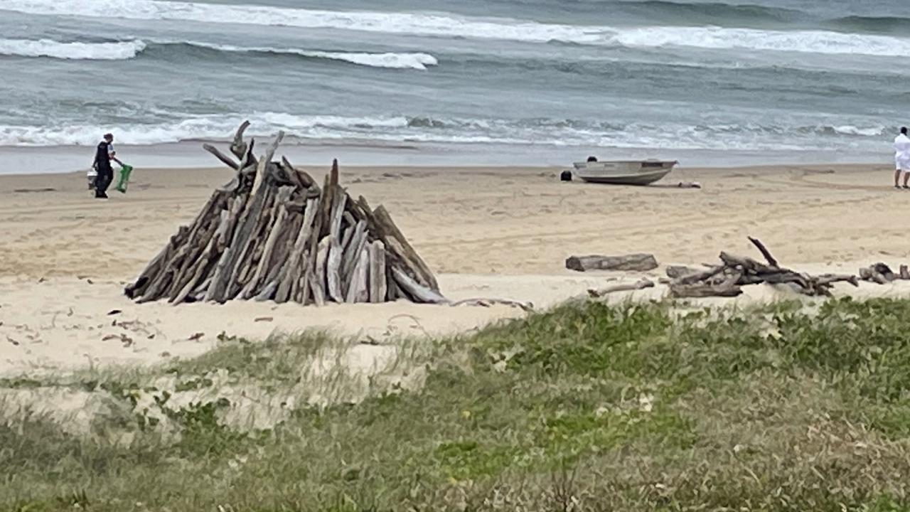
[[[589, 302], [407, 345], [366, 382], [313, 370], [346, 350], [225, 340], [133, 382], [0, 382], [106, 397], [88, 434], [0, 419], [0, 508], [910, 511], [910, 301]], [[227, 421], [249, 390], [274, 421]]]

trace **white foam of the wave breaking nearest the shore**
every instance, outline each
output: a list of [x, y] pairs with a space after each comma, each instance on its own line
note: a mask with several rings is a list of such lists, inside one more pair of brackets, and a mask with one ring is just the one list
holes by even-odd
[[[662, 147], [666, 149], [818, 149], [874, 146], [885, 127], [870, 126], [688, 126], [660, 127], [661, 138], [652, 138], [658, 127], [648, 125], [604, 126], [582, 121], [566, 123], [543, 119], [460, 119], [295, 116], [260, 112], [248, 117], [250, 135], [268, 137], [278, 129], [289, 137], [315, 140], [372, 140], [430, 144], [501, 144], [534, 146], [591, 146], [612, 148]], [[224, 115], [191, 117], [145, 125], [91, 126], [63, 122], [45, 127], [0, 126], [0, 146], [89, 146], [105, 131], [118, 143], [152, 145], [186, 140], [227, 140], [244, 118]], [[668, 143], [668, 140], [672, 143]], [[669, 144], [669, 145], [668, 145]]]

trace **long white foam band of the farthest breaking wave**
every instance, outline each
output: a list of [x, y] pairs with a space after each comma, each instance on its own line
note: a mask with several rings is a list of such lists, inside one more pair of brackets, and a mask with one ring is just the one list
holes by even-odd
[[822, 30], [779, 31], [715, 26], [571, 26], [505, 18], [422, 13], [327, 11], [267, 5], [212, 5], [161, 0], [5, 0], [0, 9], [34, 15], [77, 15], [260, 26], [335, 28], [387, 34], [507, 39], [581, 45], [745, 48], [821, 54], [910, 55], [910, 39]]

